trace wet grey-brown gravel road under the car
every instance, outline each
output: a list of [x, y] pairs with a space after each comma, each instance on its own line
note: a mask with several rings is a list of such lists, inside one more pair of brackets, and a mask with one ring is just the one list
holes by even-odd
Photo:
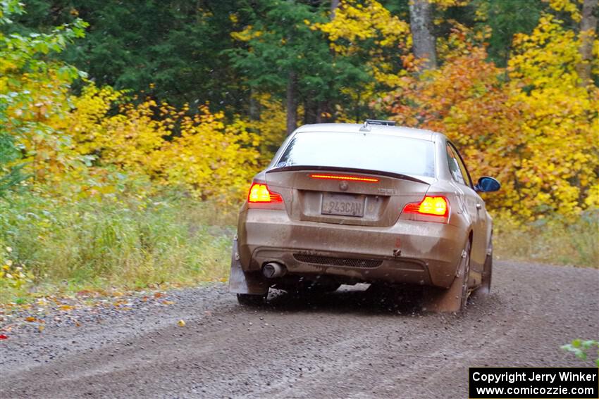
[[171, 291], [0, 341], [0, 397], [467, 398], [471, 366], [590, 365], [560, 346], [599, 337], [599, 270], [496, 262], [493, 278], [461, 315], [362, 287], [259, 309], [224, 284]]

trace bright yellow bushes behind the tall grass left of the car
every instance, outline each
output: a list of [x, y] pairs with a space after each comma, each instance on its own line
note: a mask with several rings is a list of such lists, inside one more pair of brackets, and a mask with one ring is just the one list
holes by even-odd
[[[72, 134], [80, 155], [97, 157], [92, 170], [116, 167], [199, 198], [236, 201], [245, 195], [259, 167], [261, 142], [245, 122], [237, 118], [226, 123], [223, 113], [212, 114], [207, 106], [191, 113], [187, 106], [178, 110], [152, 99], [138, 105], [125, 102], [110, 115], [118, 101], [124, 101], [123, 92], [89, 84], [81, 96], [70, 98], [73, 109], [65, 117], [50, 122]], [[102, 173], [95, 175], [94, 182], [106, 181]], [[106, 194], [110, 187], [95, 184], [89, 189]]]

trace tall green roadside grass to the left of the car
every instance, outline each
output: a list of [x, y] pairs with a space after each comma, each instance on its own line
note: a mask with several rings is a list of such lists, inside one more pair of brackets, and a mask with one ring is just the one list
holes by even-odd
[[236, 208], [186, 196], [3, 198], [0, 302], [33, 293], [224, 281]]

